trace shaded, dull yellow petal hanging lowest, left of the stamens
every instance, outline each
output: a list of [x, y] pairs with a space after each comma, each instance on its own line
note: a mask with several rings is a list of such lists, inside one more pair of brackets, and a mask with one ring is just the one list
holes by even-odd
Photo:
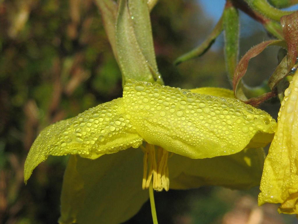
[[[94, 160], [71, 156], [63, 178], [59, 223], [118, 224], [131, 218], [149, 198], [142, 190], [143, 156], [139, 148]], [[77, 188], [78, 183], [84, 188]]]

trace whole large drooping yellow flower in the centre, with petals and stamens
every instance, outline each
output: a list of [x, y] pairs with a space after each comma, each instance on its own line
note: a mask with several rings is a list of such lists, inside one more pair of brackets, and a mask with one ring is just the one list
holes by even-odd
[[45, 128], [25, 162], [25, 182], [48, 155], [80, 155], [70, 157], [65, 172], [60, 223], [90, 224], [131, 217], [147, 200], [142, 188], [151, 179], [157, 191], [256, 185], [263, 162], [258, 147], [272, 140], [275, 120], [237, 99], [195, 91], [211, 94], [214, 88], [190, 91], [129, 80], [122, 98]]

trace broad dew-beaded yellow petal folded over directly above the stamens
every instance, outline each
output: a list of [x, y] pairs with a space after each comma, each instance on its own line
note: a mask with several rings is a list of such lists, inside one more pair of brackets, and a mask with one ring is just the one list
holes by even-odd
[[129, 80], [123, 102], [131, 124], [146, 142], [193, 159], [266, 146], [276, 122], [237, 99]]

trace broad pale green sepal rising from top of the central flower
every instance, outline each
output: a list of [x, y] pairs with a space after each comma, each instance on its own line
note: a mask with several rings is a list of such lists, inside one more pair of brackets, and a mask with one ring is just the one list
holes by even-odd
[[[140, 5], [142, 6], [141, 10], [136, 13], [136, 9]], [[115, 30], [122, 84], [124, 85], [128, 79], [162, 84], [163, 81], [157, 71], [154, 55], [147, 1], [142, 0], [138, 3], [138, 1], [132, 0], [129, 1], [129, 6], [133, 8], [132, 13], [136, 15], [136, 18], [131, 14], [127, 0], [120, 0]], [[140, 21], [134, 22], [135, 19]]]

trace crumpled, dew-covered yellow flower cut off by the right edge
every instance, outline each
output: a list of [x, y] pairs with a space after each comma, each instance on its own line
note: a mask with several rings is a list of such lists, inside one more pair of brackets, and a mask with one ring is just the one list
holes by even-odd
[[259, 205], [281, 203], [278, 211], [298, 214], [298, 74], [281, 103], [277, 132], [265, 159]]

